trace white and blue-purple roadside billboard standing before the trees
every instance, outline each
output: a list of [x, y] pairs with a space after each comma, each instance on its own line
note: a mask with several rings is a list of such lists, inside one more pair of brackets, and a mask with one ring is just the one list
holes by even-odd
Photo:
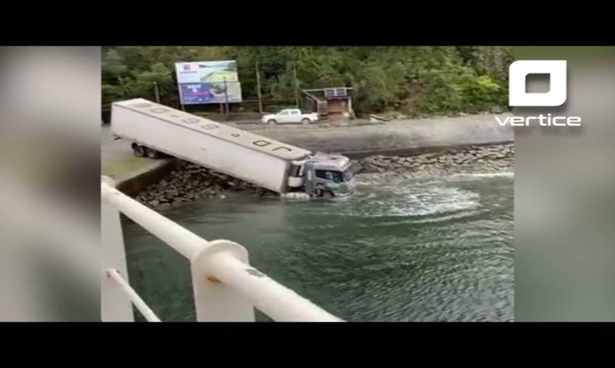
[[182, 104], [242, 101], [236, 61], [194, 61], [176, 63], [175, 67]]

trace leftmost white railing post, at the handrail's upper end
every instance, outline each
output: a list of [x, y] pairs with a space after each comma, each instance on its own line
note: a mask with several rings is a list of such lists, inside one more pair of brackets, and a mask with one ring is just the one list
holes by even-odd
[[[111, 178], [103, 176], [102, 181], [108, 186], [115, 187]], [[126, 267], [126, 251], [124, 249], [124, 236], [120, 223], [120, 211], [108, 204], [106, 200], [100, 201], [100, 238], [102, 244], [102, 264], [100, 269], [100, 313], [103, 322], [134, 322], [133, 306], [120, 285], [109, 277], [106, 270], [115, 269], [126, 282], [128, 268]]]

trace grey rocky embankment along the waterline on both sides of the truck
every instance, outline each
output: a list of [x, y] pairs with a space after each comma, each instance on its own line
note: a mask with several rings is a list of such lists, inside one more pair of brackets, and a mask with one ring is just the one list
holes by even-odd
[[[456, 173], [503, 173], [513, 171], [514, 144], [448, 148], [409, 156], [376, 155], [359, 159], [357, 175], [392, 174], [430, 177]], [[135, 199], [152, 209], [180, 206], [194, 200], [224, 199], [225, 193], [242, 191], [252, 195], [274, 195], [271, 191], [208, 168], [178, 161], [177, 167]]]

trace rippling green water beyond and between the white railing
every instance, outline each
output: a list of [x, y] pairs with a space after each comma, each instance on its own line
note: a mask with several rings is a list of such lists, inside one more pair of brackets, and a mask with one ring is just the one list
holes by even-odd
[[[513, 177], [361, 177], [354, 195], [249, 195], [164, 212], [349, 321], [513, 320]], [[131, 284], [162, 320], [195, 320], [189, 262], [124, 222]], [[258, 316], [258, 320], [267, 320]]]

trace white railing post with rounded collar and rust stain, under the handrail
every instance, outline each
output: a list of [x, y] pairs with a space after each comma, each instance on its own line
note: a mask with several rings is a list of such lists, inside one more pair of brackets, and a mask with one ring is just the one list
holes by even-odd
[[240, 291], [220, 282], [208, 271], [212, 255], [228, 252], [248, 263], [243, 246], [228, 240], [214, 240], [204, 244], [190, 260], [192, 288], [198, 322], [254, 322], [254, 305]]

